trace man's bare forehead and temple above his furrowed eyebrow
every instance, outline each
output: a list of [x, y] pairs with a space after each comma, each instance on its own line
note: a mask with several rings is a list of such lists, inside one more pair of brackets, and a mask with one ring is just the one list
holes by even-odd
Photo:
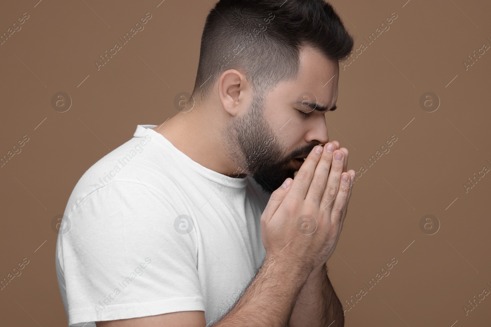
[[296, 79], [282, 81], [271, 96], [281, 101], [317, 102], [331, 108], [337, 101], [339, 64], [328, 60], [316, 49], [300, 50], [300, 71]]

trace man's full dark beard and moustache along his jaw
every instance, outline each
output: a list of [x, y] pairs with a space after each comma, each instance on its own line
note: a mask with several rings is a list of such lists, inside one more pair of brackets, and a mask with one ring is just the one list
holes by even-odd
[[239, 167], [238, 172], [251, 176], [264, 192], [271, 194], [286, 178], [294, 178], [296, 169], [290, 161], [308, 155], [316, 144], [307, 144], [285, 154], [263, 109], [263, 99], [254, 96], [246, 114], [227, 126], [227, 147], [231, 159]]

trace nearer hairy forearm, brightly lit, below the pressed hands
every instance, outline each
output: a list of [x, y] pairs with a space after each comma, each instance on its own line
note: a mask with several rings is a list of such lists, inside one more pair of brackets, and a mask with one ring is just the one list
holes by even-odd
[[284, 327], [308, 272], [266, 257], [234, 307], [214, 327]]

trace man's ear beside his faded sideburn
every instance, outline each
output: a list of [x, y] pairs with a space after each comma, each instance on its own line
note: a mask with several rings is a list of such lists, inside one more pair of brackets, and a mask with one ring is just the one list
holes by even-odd
[[220, 75], [218, 97], [230, 115], [237, 116], [242, 110], [246, 110], [250, 96], [250, 84], [241, 72], [229, 69]]

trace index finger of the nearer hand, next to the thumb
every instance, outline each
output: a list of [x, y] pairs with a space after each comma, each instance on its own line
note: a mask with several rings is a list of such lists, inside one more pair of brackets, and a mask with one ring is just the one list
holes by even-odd
[[[319, 152], [319, 153], [318, 153]], [[309, 188], [312, 177], [314, 176], [314, 170], [321, 158], [323, 153], [323, 148], [321, 146], [315, 146], [309, 155], [305, 158], [302, 163], [295, 179], [293, 180], [292, 186], [290, 187], [291, 192], [288, 192], [286, 199], [289, 201], [294, 200], [304, 200], [307, 190]]]

